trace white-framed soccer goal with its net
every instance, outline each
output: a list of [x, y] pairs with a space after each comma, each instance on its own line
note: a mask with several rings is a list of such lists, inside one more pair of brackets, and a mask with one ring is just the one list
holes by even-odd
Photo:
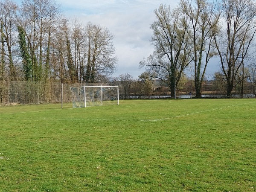
[[70, 90], [73, 108], [119, 104], [119, 90], [117, 86], [70, 87]]

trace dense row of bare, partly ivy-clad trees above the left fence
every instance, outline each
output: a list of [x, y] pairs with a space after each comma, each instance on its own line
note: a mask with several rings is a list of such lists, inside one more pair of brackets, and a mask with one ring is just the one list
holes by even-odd
[[113, 34], [70, 22], [54, 0], [0, 1], [0, 81], [94, 82], [116, 69]]

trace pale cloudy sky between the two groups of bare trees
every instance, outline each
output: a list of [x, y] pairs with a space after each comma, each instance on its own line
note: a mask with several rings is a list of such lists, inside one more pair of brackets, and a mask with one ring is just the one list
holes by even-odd
[[[114, 35], [113, 44], [118, 58], [113, 77], [129, 73], [134, 79], [145, 71], [139, 63], [154, 49], [150, 44], [150, 24], [156, 20], [154, 10], [161, 4], [177, 6], [178, 0], [55, 0], [60, 4], [65, 17], [76, 18], [84, 25], [87, 22], [107, 27]], [[21, 0], [17, 0], [20, 4]], [[213, 70], [214, 65], [208, 67]], [[209, 76], [209, 75], [208, 75]]]

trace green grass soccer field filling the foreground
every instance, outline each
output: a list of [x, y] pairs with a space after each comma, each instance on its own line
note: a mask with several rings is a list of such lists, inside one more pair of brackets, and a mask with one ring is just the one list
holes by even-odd
[[2, 192], [254, 192], [256, 99], [0, 108]]

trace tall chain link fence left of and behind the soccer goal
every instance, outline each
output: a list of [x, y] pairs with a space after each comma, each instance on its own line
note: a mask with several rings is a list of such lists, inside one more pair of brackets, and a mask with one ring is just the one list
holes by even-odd
[[0, 105], [72, 102], [70, 87], [83, 85], [109, 86], [101, 83], [63, 84], [62, 90], [60, 82], [0, 81]]

